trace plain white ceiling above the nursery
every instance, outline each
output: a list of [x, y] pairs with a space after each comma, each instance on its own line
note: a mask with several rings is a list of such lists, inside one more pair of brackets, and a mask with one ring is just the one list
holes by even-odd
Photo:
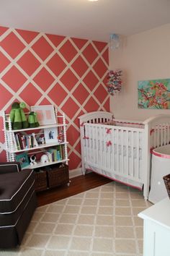
[[170, 0], [0, 0], [0, 25], [108, 41], [170, 23]]

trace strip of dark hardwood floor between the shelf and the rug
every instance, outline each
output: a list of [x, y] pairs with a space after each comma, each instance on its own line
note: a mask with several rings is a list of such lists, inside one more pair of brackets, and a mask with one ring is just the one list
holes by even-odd
[[105, 178], [99, 174], [93, 172], [81, 176], [77, 176], [71, 179], [70, 186], [67, 185], [56, 187], [54, 189], [48, 189], [43, 192], [37, 193], [37, 205], [47, 205], [50, 202], [55, 202], [72, 195], [79, 194], [94, 187], [111, 182], [110, 179]]

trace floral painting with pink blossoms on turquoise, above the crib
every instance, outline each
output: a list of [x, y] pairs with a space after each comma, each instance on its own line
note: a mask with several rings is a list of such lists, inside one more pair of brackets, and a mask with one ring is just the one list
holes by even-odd
[[170, 108], [170, 79], [139, 81], [138, 108]]

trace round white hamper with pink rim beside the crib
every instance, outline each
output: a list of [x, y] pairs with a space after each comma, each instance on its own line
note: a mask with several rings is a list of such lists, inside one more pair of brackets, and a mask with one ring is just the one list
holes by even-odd
[[168, 197], [163, 177], [170, 174], [170, 145], [152, 151], [151, 190], [148, 200], [156, 203]]

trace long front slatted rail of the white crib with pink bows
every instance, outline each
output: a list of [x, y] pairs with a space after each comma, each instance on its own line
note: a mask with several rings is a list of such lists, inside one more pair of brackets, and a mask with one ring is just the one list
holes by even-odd
[[135, 181], [143, 181], [144, 129], [84, 124], [84, 161]]

